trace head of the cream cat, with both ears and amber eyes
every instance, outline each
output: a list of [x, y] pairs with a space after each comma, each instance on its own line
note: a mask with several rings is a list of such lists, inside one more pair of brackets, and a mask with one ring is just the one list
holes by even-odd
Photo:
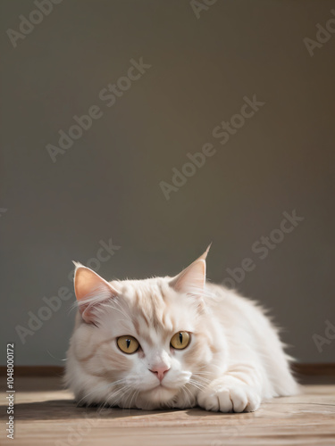
[[107, 282], [76, 264], [71, 349], [96, 385], [86, 402], [172, 407], [205, 385], [218, 341], [204, 303], [207, 252], [176, 277], [145, 280]]

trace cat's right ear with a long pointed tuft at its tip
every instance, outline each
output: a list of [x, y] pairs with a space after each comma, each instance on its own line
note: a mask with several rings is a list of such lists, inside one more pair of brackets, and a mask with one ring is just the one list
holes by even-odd
[[205, 289], [205, 259], [209, 248], [205, 250], [197, 260], [191, 263], [188, 268], [185, 268], [181, 273], [172, 278], [170, 285], [180, 293], [198, 294]]

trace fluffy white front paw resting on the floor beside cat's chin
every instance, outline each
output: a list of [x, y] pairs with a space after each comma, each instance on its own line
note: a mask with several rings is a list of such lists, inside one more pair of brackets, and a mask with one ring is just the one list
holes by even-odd
[[198, 405], [215, 412], [254, 412], [261, 398], [247, 385], [208, 386], [197, 395]]

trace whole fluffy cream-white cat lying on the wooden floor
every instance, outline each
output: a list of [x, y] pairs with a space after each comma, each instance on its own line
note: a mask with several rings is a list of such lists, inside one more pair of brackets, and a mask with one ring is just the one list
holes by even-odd
[[206, 282], [208, 250], [176, 277], [106, 282], [75, 263], [65, 382], [80, 405], [248, 412], [298, 392], [264, 310]]

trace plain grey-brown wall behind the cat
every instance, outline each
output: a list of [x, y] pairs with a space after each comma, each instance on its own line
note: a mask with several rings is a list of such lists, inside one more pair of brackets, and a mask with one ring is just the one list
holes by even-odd
[[[335, 34], [313, 57], [303, 41], [331, 8], [218, 1], [197, 19], [188, 1], [69, 0], [13, 48], [6, 30], [36, 6], [2, 0], [1, 363], [15, 343], [17, 364], [63, 364], [73, 298], [26, 343], [15, 327], [111, 238], [108, 280], [176, 274], [210, 242], [213, 281], [252, 258], [238, 289], [272, 310], [290, 354], [334, 359], [313, 335], [335, 323]], [[151, 68], [106, 107], [101, 89], [140, 57]], [[254, 94], [264, 106], [220, 145], [214, 127]], [[102, 118], [53, 162], [46, 145], [94, 104]], [[167, 201], [159, 183], [205, 143], [216, 153]], [[304, 221], [259, 260], [251, 246], [292, 210]]]

